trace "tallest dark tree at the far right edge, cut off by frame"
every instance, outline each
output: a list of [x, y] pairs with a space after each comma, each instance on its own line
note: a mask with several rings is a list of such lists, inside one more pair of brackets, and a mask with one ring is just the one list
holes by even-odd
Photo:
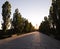
[[53, 28], [55, 29], [55, 36], [60, 38], [60, 0], [52, 0], [52, 5], [50, 8], [49, 15], [53, 21], [52, 25]]

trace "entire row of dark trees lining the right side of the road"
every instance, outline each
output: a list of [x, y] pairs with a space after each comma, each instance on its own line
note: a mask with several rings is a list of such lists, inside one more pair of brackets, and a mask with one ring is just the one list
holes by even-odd
[[44, 17], [39, 31], [60, 40], [60, 0], [52, 0], [48, 17]]

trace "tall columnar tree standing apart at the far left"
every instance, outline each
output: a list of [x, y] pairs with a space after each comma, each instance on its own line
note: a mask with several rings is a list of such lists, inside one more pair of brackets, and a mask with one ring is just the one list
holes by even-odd
[[2, 29], [3, 29], [4, 32], [9, 27], [10, 15], [11, 15], [11, 5], [8, 1], [6, 1], [2, 5], [2, 18], [3, 18]]

